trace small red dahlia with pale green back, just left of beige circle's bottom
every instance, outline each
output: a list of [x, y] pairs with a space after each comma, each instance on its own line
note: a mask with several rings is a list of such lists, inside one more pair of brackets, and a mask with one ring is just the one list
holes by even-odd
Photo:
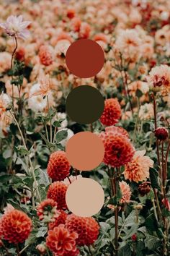
[[55, 221], [55, 218], [59, 216], [57, 203], [53, 199], [45, 199], [37, 207], [37, 216], [39, 216], [40, 221]]

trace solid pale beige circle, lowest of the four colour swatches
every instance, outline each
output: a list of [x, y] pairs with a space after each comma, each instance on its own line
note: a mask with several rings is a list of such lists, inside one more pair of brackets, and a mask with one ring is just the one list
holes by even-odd
[[99, 213], [104, 204], [102, 186], [94, 179], [77, 179], [68, 186], [66, 204], [76, 216], [93, 216]]

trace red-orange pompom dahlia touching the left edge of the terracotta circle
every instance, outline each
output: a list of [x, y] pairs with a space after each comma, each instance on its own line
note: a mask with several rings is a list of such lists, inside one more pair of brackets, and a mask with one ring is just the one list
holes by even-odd
[[70, 174], [71, 165], [64, 151], [56, 151], [50, 155], [48, 176], [54, 181], [61, 181]]

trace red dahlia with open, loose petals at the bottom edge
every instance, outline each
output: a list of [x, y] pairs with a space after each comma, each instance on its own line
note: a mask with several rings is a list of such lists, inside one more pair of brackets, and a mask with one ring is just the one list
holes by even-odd
[[77, 238], [78, 234], [76, 232], [68, 231], [61, 224], [53, 230], [48, 231], [46, 245], [58, 256], [79, 255], [79, 250], [76, 248]]

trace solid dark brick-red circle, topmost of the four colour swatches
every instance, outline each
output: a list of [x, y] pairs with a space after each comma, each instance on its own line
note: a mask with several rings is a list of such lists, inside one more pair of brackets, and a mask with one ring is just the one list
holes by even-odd
[[76, 40], [66, 52], [66, 65], [76, 77], [94, 77], [104, 65], [104, 51], [94, 40]]

